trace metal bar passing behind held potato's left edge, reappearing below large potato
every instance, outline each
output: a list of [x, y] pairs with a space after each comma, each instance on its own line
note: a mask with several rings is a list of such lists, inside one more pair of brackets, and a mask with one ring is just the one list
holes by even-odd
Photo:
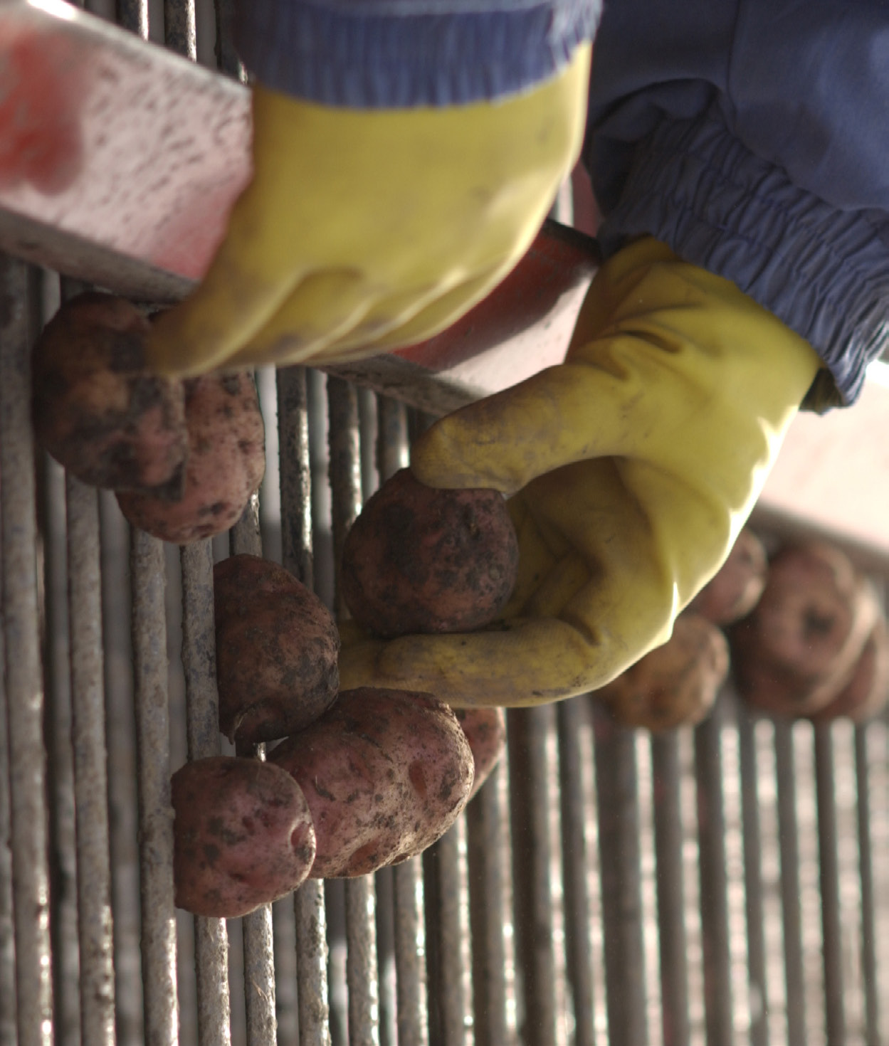
[[[336, 576], [345, 536], [361, 510], [361, 453], [358, 438], [358, 395], [355, 387], [339, 378], [328, 378], [327, 409]], [[338, 582], [335, 606], [338, 610], [342, 609]], [[347, 879], [345, 901], [349, 1044], [375, 1046], [379, 1041], [379, 1011], [372, 877]]]

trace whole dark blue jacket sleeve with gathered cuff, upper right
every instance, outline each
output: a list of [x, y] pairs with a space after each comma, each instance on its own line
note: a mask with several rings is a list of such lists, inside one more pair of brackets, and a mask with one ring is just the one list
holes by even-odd
[[620, 0], [584, 157], [606, 253], [647, 233], [732, 279], [858, 395], [889, 323], [889, 4]]

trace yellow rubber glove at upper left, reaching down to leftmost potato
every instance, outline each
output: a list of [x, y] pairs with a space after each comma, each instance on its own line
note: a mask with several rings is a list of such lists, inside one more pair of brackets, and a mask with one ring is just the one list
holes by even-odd
[[337, 109], [253, 90], [251, 183], [185, 302], [154, 327], [168, 374], [333, 362], [432, 337], [522, 257], [579, 153], [590, 46], [532, 91]]

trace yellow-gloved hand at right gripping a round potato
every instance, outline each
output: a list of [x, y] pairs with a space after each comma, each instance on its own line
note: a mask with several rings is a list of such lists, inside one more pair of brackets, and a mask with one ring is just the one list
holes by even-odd
[[820, 366], [733, 283], [639, 240], [596, 275], [566, 362], [449, 415], [411, 468], [512, 495], [519, 581], [488, 631], [344, 633], [344, 689], [529, 705], [666, 641], [725, 561]]

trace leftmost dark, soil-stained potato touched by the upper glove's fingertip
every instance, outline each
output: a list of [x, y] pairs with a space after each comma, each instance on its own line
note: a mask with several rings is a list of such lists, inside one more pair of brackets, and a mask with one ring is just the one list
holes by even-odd
[[188, 454], [185, 390], [145, 369], [149, 329], [111, 294], [63, 304], [31, 354], [35, 435], [85, 483], [176, 499]]

